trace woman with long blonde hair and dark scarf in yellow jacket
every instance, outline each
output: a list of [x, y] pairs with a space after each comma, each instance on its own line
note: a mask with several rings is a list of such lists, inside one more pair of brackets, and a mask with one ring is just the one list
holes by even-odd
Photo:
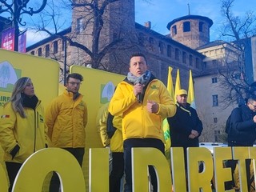
[[12, 191], [14, 179], [31, 154], [48, 145], [42, 102], [30, 78], [19, 78], [0, 119], [0, 141]]

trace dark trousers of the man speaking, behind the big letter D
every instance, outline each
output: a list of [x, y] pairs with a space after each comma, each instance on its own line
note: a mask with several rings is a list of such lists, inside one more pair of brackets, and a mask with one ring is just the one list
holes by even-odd
[[[123, 142], [126, 184], [125, 192], [132, 191], [132, 173], [131, 173], [131, 148], [133, 147], [153, 147], [165, 154], [165, 146], [160, 139], [157, 138], [129, 138]], [[145, 157], [146, 158], [146, 157]], [[149, 166], [151, 184], [154, 192], [158, 189], [158, 180], [153, 166]]]

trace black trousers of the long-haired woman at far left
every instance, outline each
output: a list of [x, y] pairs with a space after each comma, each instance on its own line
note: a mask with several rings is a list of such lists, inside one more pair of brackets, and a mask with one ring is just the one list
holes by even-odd
[[18, 174], [18, 170], [22, 167], [22, 163], [18, 162], [6, 162], [6, 170], [8, 173], [8, 178], [10, 182], [9, 186], [9, 192], [11, 192], [13, 186], [14, 186], [14, 180], [16, 178], [16, 175]]

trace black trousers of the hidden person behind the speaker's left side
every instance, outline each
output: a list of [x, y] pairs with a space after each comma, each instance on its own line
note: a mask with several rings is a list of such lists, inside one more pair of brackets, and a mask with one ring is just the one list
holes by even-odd
[[124, 174], [124, 159], [122, 152], [112, 152], [112, 171], [110, 173], [110, 192], [119, 192]]

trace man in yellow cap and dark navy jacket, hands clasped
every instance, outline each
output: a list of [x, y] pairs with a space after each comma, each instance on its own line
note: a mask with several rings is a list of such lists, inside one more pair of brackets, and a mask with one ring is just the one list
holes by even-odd
[[176, 114], [167, 118], [167, 121], [170, 126], [171, 147], [183, 148], [186, 168], [186, 148], [199, 146], [198, 138], [202, 133], [202, 122], [198, 118], [197, 111], [187, 102], [186, 90], [177, 91], [176, 101]]

